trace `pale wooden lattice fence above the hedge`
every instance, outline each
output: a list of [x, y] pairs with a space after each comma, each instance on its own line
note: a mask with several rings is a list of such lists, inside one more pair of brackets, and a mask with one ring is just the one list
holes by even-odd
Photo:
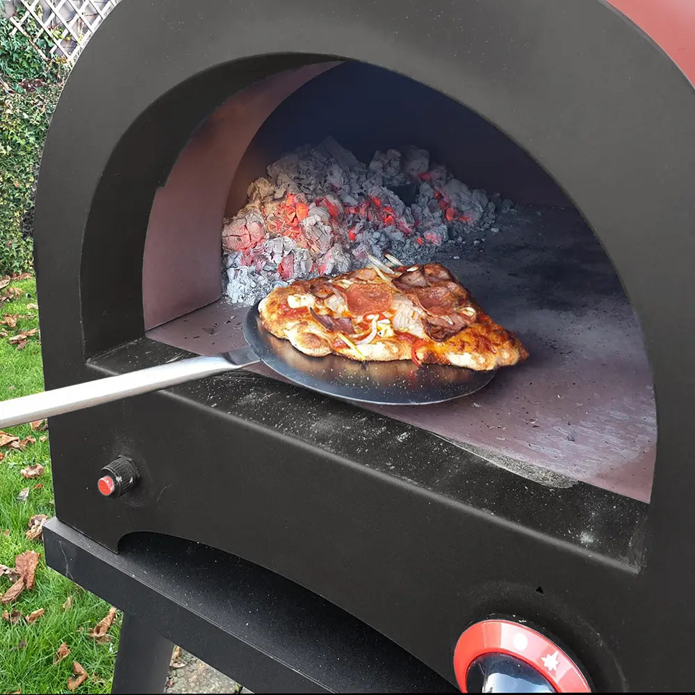
[[0, 0], [5, 16], [13, 24], [10, 33], [21, 31], [32, 40], [39, 37], [51, 44], [49, 58], [73, 63], [106, 15], [120, 0]]

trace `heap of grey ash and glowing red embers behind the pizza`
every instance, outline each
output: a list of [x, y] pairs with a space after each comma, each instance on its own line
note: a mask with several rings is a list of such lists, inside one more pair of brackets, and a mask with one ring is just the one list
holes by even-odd
[[377, 152], [367, 166], [327, 138], [267, 172], [222, 229], [224, 293], [243, 306], [295, 279], [362, 268], [368, 254], [423, 263], [511, 207], [471, 190], [416, 147]]

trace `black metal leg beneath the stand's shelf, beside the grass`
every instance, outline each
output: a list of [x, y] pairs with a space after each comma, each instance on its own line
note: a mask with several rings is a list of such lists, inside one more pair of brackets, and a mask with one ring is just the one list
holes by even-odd
[[168, 639], [124, 614], [111, 692], [163, 693], [173, 649]]

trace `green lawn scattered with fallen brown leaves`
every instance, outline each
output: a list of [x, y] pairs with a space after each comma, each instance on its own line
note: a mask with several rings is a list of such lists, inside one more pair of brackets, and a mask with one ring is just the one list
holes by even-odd
[[[0, 304], [0, 320], [7, 315], [19, 314], [14, 328], [0, 325], [0, 400], [16, 398], [42, 391], [41, 344], [38, 336], [28, 338], [23, 350], [17, 350], [9, 339], [20, 331], [38, 327], [37, 310], [28, 305], [36, 302], [35, 281], [13, 281], [8, 287], [17, 287], [21, 294], [15, 300]], [[0, 296], [7, 288], [0, 289]], [[107, 693], [111, 691], [115, 651], [118, 644], [119, 621], [112, 626], [111, 642], [99, 644], [88, 636], [104, 616], [109, 605], [92, 596], [62, 575], [48, 569], [43, 558], [41, 541], [31, 541], [24, 536], [28, 520], [33, 514], [54, 513], [53, 484], [49, 441], [39, 441], [47, 432], [35, 432], [29, 425], [12, 427], [8, 434], [24, 439], [34, 436], [22, 450], [7, 447], [0, 449], [4, 455], [0, 461], [0, 564], [14, 566], [15, 556], [25, 550], [41, 554], [36, 571], [36, 586], [24, 591], [3, 610], [19, 610], [25, 616], [44, 608], [45, 613], [34, 623], [23, 619], [17, 624], [0, 619], [0, 693], [67, 693], [67, 681], [73, 676], [72, 664], [79, 662], [89, 678], [75, 692]], [[19, 471], [30, 464], [42, 464], [45, 470], [37, 480], [26, 480]], [[35, 485], [42, 486], [35, 488]], [[26, 502], [17, 500], [19, 491], [30, 489]], [[9, 530], [9, 534], [5, 534]], [[0, 578], [0, 593], [10, 587], [7, 577]], [[72, 596], [72, 606], [63, 604]], [[62, 642], [70, 648], [70, 656], [54, 664], [54, 655]]]

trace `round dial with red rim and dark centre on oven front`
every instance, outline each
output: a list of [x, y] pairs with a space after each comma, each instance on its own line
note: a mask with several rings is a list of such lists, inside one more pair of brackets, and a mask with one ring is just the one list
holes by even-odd
[[459, 637], [454, 671], [462, 692], [591, 692], [573, 660], [528, 625], [490, 619]]

